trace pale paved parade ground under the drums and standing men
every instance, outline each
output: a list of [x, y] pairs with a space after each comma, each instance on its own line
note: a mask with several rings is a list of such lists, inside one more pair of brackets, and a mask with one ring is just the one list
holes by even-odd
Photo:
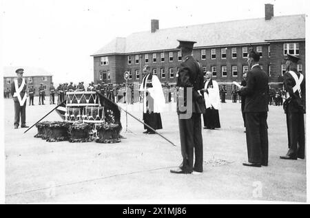
[[[38, 98], [34, 103], [26, 108], [29, 126], [54, 107], [48, 98], [48, 105], [38, 105]], [[161, 113], [163, 129], [158, 132], [176, 147], [158, 135], [143, 134], [143, 126], [130, 116], [125, 132], [124, 112], [121, 135], [125, 139], [120, 143], [45, 142], [34, 138], [36, 127], [28, 133], [13, 129], [13, 102], [5, 99], [6, 203], [306, 201], [306, 160], [279, 159], [287, 152], [282, 107], [269, 107], [269, 166], [252, 168], [242, 166], [247, 146], [240, 103], [222, 104], [222, 128], [203, 129], [204, 171], [199, 175], [169, 173], [182, 160], [175, 108], [173, 102], [166, 104]], [[142, 118], [138, 103], [128, 110]], [[45, 120], [61, 118], [53, 112]]]

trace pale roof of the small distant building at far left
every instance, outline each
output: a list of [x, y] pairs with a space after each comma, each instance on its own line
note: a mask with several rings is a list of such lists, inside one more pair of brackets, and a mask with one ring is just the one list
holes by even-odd
[[27, 66], [8, 66], [3, 67], [3, 77], [16, 77], [16, 69], [23, 68], [23, 76], [53, 76], [45, 69], [39, 67], [27, 67]]

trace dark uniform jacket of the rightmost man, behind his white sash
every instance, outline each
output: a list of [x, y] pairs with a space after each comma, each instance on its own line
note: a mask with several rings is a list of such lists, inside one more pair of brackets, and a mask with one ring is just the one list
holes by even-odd
[[[300, 78], [300, 72], [293, 71], [296, 73], [298, 79]], [[305, 79], [305, 78], [304, 78]], [[285, 86], [285, 90], [289, 93], [290, 98], [285, 100], [288, 102], [287, 111], [290, 113], [303, 112], [305, 113], [306, 107], [306, 91], [305, 91], [305, 81], [302, 80], [300, 83], [300, 94], [298, 90], [293, 92], [293, 87], [296, 85], [296, 81], [291, 76], [289, 72], [286, 72], [284, 75], [283, 84]], [[287, 112], [286, 111], [286, 112]]]

